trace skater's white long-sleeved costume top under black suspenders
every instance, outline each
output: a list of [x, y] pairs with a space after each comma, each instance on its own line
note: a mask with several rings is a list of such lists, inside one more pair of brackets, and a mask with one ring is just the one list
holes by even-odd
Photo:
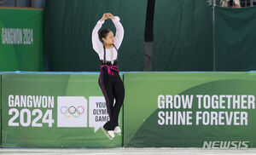
[[[114, 37], [114, 42], [113, 42], [116, 49], [119, 49], [124, 37], [124, 28], [119, 22], [119, 20], [120, 19], [118, 16], [114, 16], [112, 20], [116, 28], [116, 35]], [[91, 34], [92, 47], [96, 51], [96, 53], [99, 55], [100, 60], [104, 60], [103, 43], [100, 41], [99, 35], [98, 35], [98, 31], [102, 27], [102, 24], [104, 24], [104, 20], [103, 21], [99, 20]], [[117, 60], [118, 51], [116, 49], [115, 48], [106, 49], [106, 61], [111, 62], [113, 64], [113, 61]]]

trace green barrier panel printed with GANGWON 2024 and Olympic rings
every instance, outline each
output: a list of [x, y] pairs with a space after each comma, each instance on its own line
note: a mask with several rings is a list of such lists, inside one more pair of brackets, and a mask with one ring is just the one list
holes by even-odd
[[[99, 74], [3, 74], [4, 147], [120, 147], [108, 121]], [[122, 77], [122, 75], [121, 75]], [[122, 127], [122, 110], [119, 125]]]

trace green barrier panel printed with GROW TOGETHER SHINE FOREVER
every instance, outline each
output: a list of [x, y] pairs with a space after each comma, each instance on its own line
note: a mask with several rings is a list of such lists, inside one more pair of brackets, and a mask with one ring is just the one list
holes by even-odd
[[125, 73], [124, 145], [255, 147], [255, 72]]

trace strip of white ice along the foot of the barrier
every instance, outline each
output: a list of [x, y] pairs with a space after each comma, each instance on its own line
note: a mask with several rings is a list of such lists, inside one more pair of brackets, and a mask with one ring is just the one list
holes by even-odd
[[256, 155], [256, 149], [204, 149], [204, 148], [105, 148], [105, 149], [90, 149], [90, 148], [77, 148], [77, 149], [46, 149], [46, 148], [1, 148], [0, 154], [18, 155], [18, 154], [38, 154], [38, 155], [59, 155], [59, 154], [93, 154], [93, 155], [141, 155], [141, 154], [177, 154], [177, 155]]

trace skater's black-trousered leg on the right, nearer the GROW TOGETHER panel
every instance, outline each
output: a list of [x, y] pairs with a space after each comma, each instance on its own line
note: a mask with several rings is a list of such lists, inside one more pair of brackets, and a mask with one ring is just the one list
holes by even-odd
[[113, 96], [115, 98], [115, 104], [113, 106], [113, 125], [114, 127], [119, 126], [119, 112], [125, 99], [125, 87], [119, 75], [116, 77], [116, 82], [113, 87]]

